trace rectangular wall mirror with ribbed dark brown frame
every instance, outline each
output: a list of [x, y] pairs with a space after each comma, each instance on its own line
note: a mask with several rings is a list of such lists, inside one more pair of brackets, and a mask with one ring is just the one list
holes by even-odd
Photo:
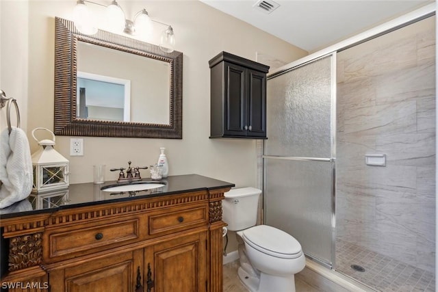
[[182, 85], [183, 53], [55, 18], [55, 135], [182, 139]]

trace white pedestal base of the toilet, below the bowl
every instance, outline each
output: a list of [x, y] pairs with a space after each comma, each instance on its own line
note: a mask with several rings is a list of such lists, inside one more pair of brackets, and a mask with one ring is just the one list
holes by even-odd
[[248, 274], [242, 267], [239, 267], [237, 274], [251, 292], [296, 292], [295, 275], [279, 277], [260, 273], [260, 278], [258, 278]]

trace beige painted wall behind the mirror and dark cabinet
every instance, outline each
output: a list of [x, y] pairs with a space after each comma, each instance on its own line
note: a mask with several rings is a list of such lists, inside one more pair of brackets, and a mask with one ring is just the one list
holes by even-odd
[[[138, 165], [150, 165], [157, 161], [159, 147], [166, 147], [170, 175], [196, 173], [239, 187], [255, 186], [255, 141], [209, 139], [208, 61], [220, 51], [228, 51], [248, 59], [263, 53], [287, 63], [307, 52], [200, 1], [118, 3], [127, 18], [146, 8], [154, 20], [171, 24], [175, 31], [176, 49], [184, 53], [183, 140], [83, 137], [84, 156], [70, 157], [70, 137], [58, 136], [55, 148], [70, 160], [70, 183], [92, 181], [92, 165], [96, 163], [105, 163], [107, 179], [115, 179], [117, 175], [110, 172], [110, 168], [125, 166], [129, 160]], [[74, 0], [0, 1], [0, 88], [19, 100], [24, 116], [22, 128], [27, 130], [32, 151], [38, 146], [31, 139], [31, 130], [36, 127], [53, 130], [54, 17], [71, 19], [74, 5]], [[18, 13], [16, 10], [20, 10], [20, 14], [28, 11], [29, 17], [19, 15], [18, 19], [23, 22], [17, 22], [13, 15]], [[8, 31], [5, 28], [10, 28], [10, 23], [20, 25]], [[3, 129], [3, 112], [0, 115]]]

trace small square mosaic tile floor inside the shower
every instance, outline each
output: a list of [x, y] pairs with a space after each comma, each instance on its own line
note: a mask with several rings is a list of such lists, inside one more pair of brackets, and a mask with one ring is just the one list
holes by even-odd
[[[353, 269], [352, 265], [359, 265], [365, 271]], [[336, 241], [336, 271], [376, 291], [435, 291], [435, 275], [430, 271], [339, 239]]]

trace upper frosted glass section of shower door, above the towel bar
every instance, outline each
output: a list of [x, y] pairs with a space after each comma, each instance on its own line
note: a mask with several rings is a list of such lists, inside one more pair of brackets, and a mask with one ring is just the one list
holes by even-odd
[[331, 156], [331, 59], [268, 80], [265, 155]]

